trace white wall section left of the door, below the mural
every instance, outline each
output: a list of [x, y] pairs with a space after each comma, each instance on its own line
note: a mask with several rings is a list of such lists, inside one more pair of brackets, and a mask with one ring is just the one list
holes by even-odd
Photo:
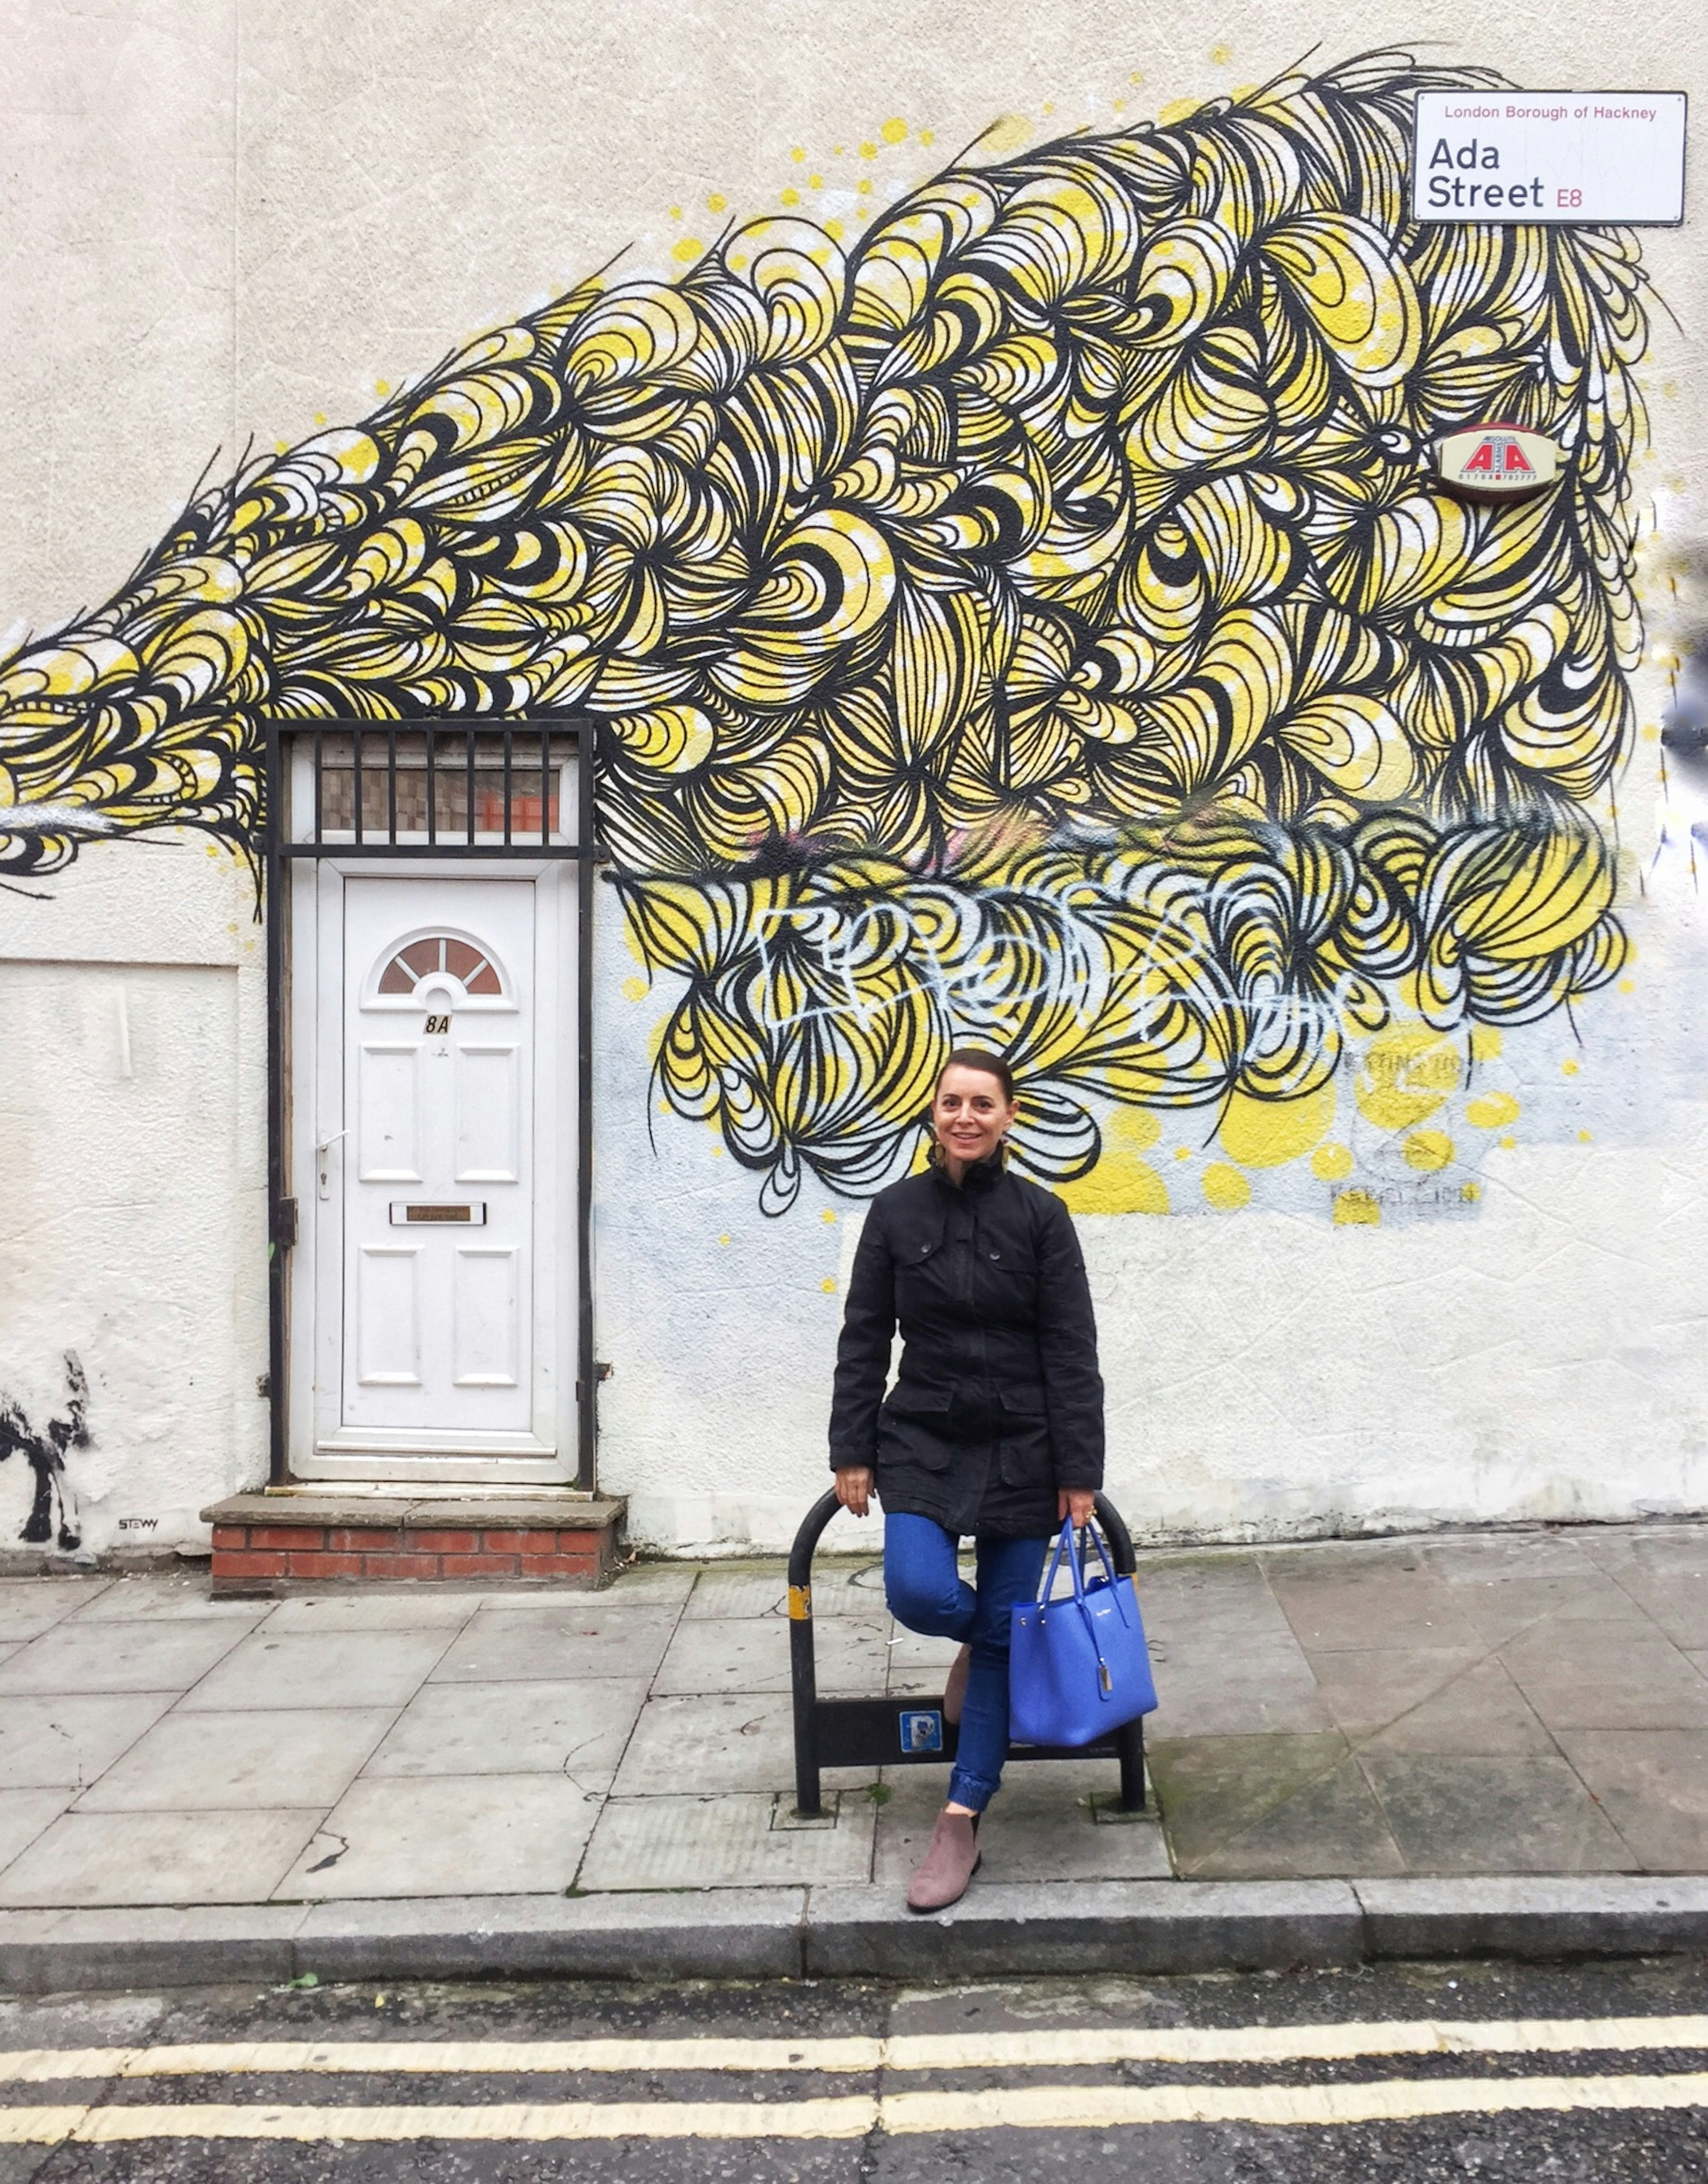
[[[0, 893], [0, 1396], [41, 1431], [63, 1354], [87, 1553], [205, 1540], [266, 1463], [266, 981], [247, 876], [120, 847]], [[33, 1474], [0, 1465], [0, 1546]]]

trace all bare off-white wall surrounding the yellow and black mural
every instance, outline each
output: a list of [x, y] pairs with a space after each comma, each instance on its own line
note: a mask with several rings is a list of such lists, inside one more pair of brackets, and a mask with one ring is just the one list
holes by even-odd
[[[1544, 33], [1544, 35], [1542, 35]], [[1540, 44], [1538, 44], [1540, 37]], [[1300, 0], [1214, 17], [1114, 0], [124, 0], [15, 9], [0, 129], [0, 631], [100, 598], [216, 448], [345, 422], [450, 343], [557, 293], [631, 238], [775, 205], [799, 168], [906, 116], [885, 177], [992, 116], [1114, 124], [1383, 39], [1518, 81], [1701, 92], [1693, 17], [1634, 0], [1472, 11], [1372, 0], [1356, 31]], [[1142, 79], [1142, 81], [1140, 81]], [[1701, 105], [1701, 98], [1697, 100]], [[1691, 223], [1649, 234], [1656, 288], [1704, 323]], [[679, 207], [679, 218], [673, 218]], [[1645, 369], [1656, 660], [1708, 620], [1708, 395], [1656, 312]], [[1632, 1516], [1708, 1507], [1704, 913], [1638, 747], [1621, 788], [1629, 994], [1516, 1035], [1520, 1142], [1455, 1142], [1481, 1199], [1337, 1227], [1297, 1173], [1217, 1214], [1186, 1127], [1153, 1155], [1179, 1216], [1081, 1214], [1112, 1396], [1112, 1489], [1158, 1533]], [[1647, 898], [1636, 895], [1645, 874]], [[1708, 876], [1708, 874], [1706, 874]], [[0, 1391], [35, 1415], [74, 1348], [96, 1446], [74, 1459], [87, 1540], [194, 1509], [264, 1468], [260, 948], [247, 878], [201, 843], [92, 850], [0, 891]], [[762, 1221], [708, 1131], [649, 1114], [668, 994], [601, 902], [598, 1310], [603, 1476], [671, 1548], [780, 1544], [819, 1489], [854, 1221], [808, 1186]], [[131, 1075], [118, 1059], [118, 996]], [[1575, 1075], [1564, 1072], [1577, 1061]], [[1343, 1088], [1343, 1112], [1352, 1092]], [[1459, 1096], [1463, 1107], [1463, 1094]], [[1588, 1138], [1584, 1136], [1588, 1131]], [[1175, 1153], [1184, 1158], [1169, 1166]], [[0, 1540], [22, 1465], [0, 1474]]]

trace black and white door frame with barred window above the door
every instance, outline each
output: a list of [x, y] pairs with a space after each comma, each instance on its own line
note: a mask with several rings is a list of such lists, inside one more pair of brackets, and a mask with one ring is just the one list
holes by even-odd
[[[312, 1149], [301, 1162], [299, 1120], [315, 1120], [315, 1009], [295, 1011], [293, 968], [312, 965], [319, 954], [319, 893], [315, 867], [332, 863], [345, 874], [398, 874], [413, 878], [537, 878], [548, 865], [574, 863], [577, 902], [574, 937], [559, 906], [557, 933], [561, 946], [559, 981], [572, 972], [572, 1005], [559, 1011], [559, 1083], [574, 1088], [574, 1177], [572, 1192], [559, 1175], [559, 1267], [574, 1280], [574, 1330], [559, 1326], [559, 1465], [574, 1457], [572, 1492], [590, 1496], [598, 1487], [598, 1365], [594, 1361], [594, 1262], [592, 1262], [592, 968], [594, 968], [594, 734], [583, 719], [550, 721], [266, 721], [266, 819], [262, 834], [262, 915], [266, 930], [266, 1171], [269, 1171], [269, 1485], [295, 1483], [290, 1470], [295, 1431], [301, 1422], [312, 1433], [315, 1402], [315, 1175]], [[476, 745], [502, 745], [502, 832], [476, 834], [474, 797], [467, 804], [467, 836], [437, 828], [430, 839], [408, 836], [398, 828], [400, 740], [426, 738], [428, 795], [432, 795], [435, 753], [443, 775], [467, 764], [470, 791], [476, 771]], [[566, 749], [568, 747], [568, 749]], [[341, 758], [341, 749], [343, 756]], [[550, 797], [539, 795], [529, 812], [511, 806], [511, 773], [526, 767], [537, 751], [537, 778], [548, 767], [557, 778], [559, 826], [550, 826]], [[323, 775], [343, 764], [345, 778], [371, 784], [389, 780], [389, 826], [363, 828], [363, 797], [356, 797], [354, 830], [323, 828]], [[494, 771], [494, 780], [496, 780]], [[520, 786], [520, 784], [518, 784]], [[435, 806], [437, 808], [437, 806]], [[515, 823], [511, 823], [511, 819]], [[304, 869], [297, 869], [297, 867]], [[290, 874], [290, 878], [286, 878]], [[539, 933], [539, 900], [535, 898], [535, 933]], [[557, 889], [550, 889], [557, 893]], [[341, 919], [339, 919], [341, 924]], [[301, 950], [308, 950], [306, 957]], [[561, 992], [561, 983], [559, 983]], [[308, 996], [304, 996], [308, 998]], [[299, 1031], [308, 1024], [308, 1053]], [[568, 1046], [574, 1042], [570, 1068]], [[297, 1116], [295, 1088], [304, 1092], [304, 1118]], [[535, 1133], [542, 1129], [535, 1112]], [[312, 1131], [310, 1131], [312, 1136]], [[301, 1188], [297, 1184], [301, 1179]], [[568, 1214], [572, 1197], [574, 1216]], [[308, 1219], [304, 1221], [304, 1212]], [[570, 1230], [574, 1245], [570, 1251]], [[301, 1238], [301, 1243], [299, 1243]], [[308, 1245], [308, 1249], [304, 1249]], [[570, 1273], [572, 1265], [572, 1273]], [[561, 1302], [561, 1284], [559, 1302]], [[295, 1334], [301, 1339], [293, 1339]], [[574, 1356], [574, 1374], [568, 1361]], [[494, 1474], [505, 1459], [494, 1459]], [[419, 1476], [430, 1476], [428, 1472]], [[491, 1474], [489, 1474], [491, 1476]], [[537, 1470], [529, 1472], [539, 1479]], [[564, 1487], [559, 1487], [561, 1492]]]

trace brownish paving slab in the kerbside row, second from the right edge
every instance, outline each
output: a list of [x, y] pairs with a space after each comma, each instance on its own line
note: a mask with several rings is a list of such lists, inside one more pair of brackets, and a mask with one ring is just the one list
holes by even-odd
[[1616, 1874], [1636, 1863], [1559, 1756], [1361, 1756], [1413, 1874]]

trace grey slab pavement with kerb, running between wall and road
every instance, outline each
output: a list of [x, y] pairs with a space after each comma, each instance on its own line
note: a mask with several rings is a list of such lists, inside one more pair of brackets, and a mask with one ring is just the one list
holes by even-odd
[[[1153, 1811], [1112, 1762], [1011, 1767], [983, 1874], [924, 1922], [944, 1769], [828, 1773], [793, 1813], [782, 1564], [7, 1579], [0, 1981], [1701, 1946], [1706, 1575], [1701, 1524], [1149, 1553]], [[889, 1621], [871, 1557], [821, 1555], [813, 1605], [821, 1695], [941, 1690], [952, 1647]]]

